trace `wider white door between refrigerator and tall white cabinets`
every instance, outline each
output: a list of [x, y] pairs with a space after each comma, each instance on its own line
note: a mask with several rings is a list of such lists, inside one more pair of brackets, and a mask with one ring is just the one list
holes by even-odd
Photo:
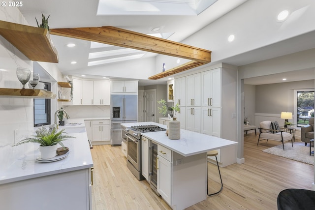
[[145, 121], [157, 122], [157, 90], [144, 90]]

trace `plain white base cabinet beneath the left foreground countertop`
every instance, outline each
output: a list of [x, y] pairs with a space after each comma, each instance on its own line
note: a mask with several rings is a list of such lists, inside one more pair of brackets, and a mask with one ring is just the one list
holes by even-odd
[[0, 209], [92, 210], [91, 173], [88, 168], [1, 184]]

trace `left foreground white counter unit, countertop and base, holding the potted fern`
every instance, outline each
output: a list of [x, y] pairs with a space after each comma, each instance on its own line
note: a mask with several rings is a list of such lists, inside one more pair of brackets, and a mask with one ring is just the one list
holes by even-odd
[[67, 131], [76, 138], [64, 141], [69, 155], [55, 162], [36, 161], [38, 144], [0, 145], [1, 209], [92, 210], [93, 160], [87, 134], [82, 125]]

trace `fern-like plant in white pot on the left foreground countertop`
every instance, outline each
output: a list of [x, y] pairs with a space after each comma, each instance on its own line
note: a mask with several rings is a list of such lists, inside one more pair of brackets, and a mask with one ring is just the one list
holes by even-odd
[[63, 135], [65, 133], [63, 131], [64, 129], [58, 131], [56, 124], [46, 127], [42, 126], [35, 131], [36, 135], [23, 139], [12, 147], [30, 142], [38, 143], [40, 157], [42, 159], [50, 159], [56, 156], [58, 144], [61, 145], [63, 149], [65, 149], [63, 141], [68, 138], [75, 138], [73, 136]]

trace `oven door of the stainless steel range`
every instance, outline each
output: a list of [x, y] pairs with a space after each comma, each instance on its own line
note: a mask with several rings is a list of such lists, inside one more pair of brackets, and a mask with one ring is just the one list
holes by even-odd
[[140, 141], [130, 135], [126, 135], [127, 160], [140, 171]]

